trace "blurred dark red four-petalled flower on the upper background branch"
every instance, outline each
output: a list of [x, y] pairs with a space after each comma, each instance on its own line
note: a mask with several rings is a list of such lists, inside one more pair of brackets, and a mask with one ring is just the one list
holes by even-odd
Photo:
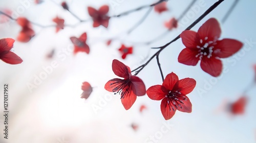
[[103, 5], [96, 10], [92, 7], [88, 7], [89, 15], [93, 18], [93, 27], [99, 27], [100, 25], [108, 28], [110, 17], [106, 14], [109, 12], [109, 6]]

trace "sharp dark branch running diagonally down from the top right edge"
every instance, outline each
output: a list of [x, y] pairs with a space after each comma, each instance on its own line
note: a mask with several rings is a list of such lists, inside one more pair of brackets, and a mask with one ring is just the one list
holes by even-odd
[[[219, 0], [218, 2], [216, 2], [214, 5], [212, 5], [210, 8], [208, 8], [197, 20], [195, 20], [190, 26], [188, 26], [186, 28], [186, 30], [190, 30], [191, 28], [193, 28], [195, 25], [197, 25], [197, 23], [199, 21], [201, 21], [206, 15], [208, 15], [212, 10], [214, 10], [215, 8], [217, 8], [224, 0]], [[150, 59], [148, 59], [148, 61], [141, 65], [140, 68], [138, 68], [139, 70], [134, 74], [135, 76], [138, 75], [140, 73], [140, 71], [148, 64], [150, 63], [150, 61], [157, 56], [161, 51], [163, 51], [165, 49], [165, 47], [167, 47], [169, 44], [175, 42], [176, 40], [178, 40], [180, 38], [180, 35], [178, 35], [176, 38], [174, 38], [172, 41], [166, 43], [163, 46], [158, 47], [158, 50]]]

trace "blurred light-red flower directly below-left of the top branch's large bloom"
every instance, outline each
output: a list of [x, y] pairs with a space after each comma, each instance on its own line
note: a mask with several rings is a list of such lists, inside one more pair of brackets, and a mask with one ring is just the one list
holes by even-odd
[[90, 49], [89, 49], [89, 46], [86, 44], [86, 40], [87, 40], [86, 33], [83, 33], [79, 38], [70, 37], [70, 40], [75, 45], [74, 54], [78, 52], [86, 52], [87, 54], [89, 54]]

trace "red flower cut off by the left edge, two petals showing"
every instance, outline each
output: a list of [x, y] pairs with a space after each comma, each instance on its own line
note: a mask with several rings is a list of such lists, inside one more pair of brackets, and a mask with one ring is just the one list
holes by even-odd
[[23, 60], [10, 50], [13, 47], [14, 40], [11, 38], [0, 39], [0, 59], [9, 64], [19, 64]]

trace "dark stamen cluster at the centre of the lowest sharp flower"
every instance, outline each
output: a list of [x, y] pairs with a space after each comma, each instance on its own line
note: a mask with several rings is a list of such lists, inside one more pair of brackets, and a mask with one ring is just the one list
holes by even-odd
[[169, 93], [165, 96], [165, 98], [167, 98], [167, 104], [170, 110], [173, 109], [174, 107], [176, 109], [181, 108], [182, 106], [181, 104], [184, 104], [183, 101], [186, 101], [187, 98], [184, 96], [184, 94], [182, 94], [179, 91], [169, 91]]

